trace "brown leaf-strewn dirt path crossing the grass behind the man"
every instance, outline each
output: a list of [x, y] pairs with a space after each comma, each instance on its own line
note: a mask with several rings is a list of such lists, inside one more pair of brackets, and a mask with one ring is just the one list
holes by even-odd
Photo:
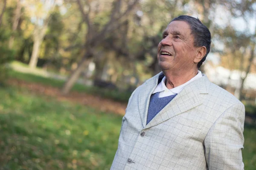
[[62, 95], [58, 88], [42, 85], [40, 83], [31, 83], [17, 79], [9, 79], [8, 84], [27, 88], [29, 89], [29, 91], [32, 91], [35, 94], [53, 96], [60, 101], [66, 100], [70, 102], [76, 102], [82, 105], [87, 105], [92, 108], [96, 108], [100, 111], [116, 113], [120, 115], [125, 114], [125, 108], [127, 105], [125, 103], [116, 102], [111, 99], [104, 99], [99, 96], [93, 96], [90, 94], [79, 93], [74, 91], [70, 92], [70, 94], [68, 95]]

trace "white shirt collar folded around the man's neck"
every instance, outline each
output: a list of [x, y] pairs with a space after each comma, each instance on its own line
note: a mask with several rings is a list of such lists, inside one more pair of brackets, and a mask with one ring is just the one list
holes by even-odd
[[178, 93], [180, 93], [180, 91], [183, 90], [183, 88], [185, 88], [186, 85], [188, 85], [189, 83], [195, 81], [196, 79], [199, 79], [200, 77], [202, 77], [202, 72], [198, 71], [198, 74], [195, 75], [195, 77], [193, 77], [189, 81], [185, 82], [184, 84], [179, 85], [179, 86], [177, 86], [175, 88], [172, 88], [172, 89], [168, 89], [166, 87], [166, 85], [165, 85], [166, 77], [163, 77], [162, 81], [157, 85], [157, 87], [155, 88], [155, 90], [154, 90], [154, 92], [152, 94], [157, 93], [157, 92], [161, 92], [161, 91], [171, 91], [174, 94], [178, 94]]

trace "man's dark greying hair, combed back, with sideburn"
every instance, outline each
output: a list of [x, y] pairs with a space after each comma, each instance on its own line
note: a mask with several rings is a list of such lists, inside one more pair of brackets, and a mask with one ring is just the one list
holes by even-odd
[[[200, 68], [210, 52], [211, 33], [209, 29], [198, 18], [190, 17], [188, 15], [180, 15], [179, 17], [174, 18], [172, 21], [185, 21], [188, 23], [191, 29], [191, 34], [194, 36], [194, 46], [206, 47], [206, 54], [197, 65], [197, 67]], [[172, 23], [172, 21], [170, 23]]]

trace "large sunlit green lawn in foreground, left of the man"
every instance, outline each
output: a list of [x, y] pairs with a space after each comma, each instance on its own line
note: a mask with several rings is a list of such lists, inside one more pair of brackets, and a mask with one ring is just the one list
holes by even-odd
[[107, 170], [121, 116], [0, 88], [0, 170]]

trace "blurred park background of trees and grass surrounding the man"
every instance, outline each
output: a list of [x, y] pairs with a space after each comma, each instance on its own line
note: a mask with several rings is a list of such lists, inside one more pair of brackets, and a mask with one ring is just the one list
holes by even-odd
[[246, 108], [256, 170], [256, 0], [0, 0], [0, 170], [108, 170], [132, 91], [179, 15], [212, 34], [200, 68]]

